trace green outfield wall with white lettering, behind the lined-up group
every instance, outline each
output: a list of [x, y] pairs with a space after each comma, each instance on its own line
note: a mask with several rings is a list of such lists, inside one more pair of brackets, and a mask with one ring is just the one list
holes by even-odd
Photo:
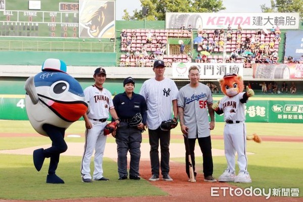
[[[303, 100], [249, 100], [245, 116], [246, 122], [303, 123]], [[224, 121], [223, 114], [215, 118]], [[0, 119], [28, 120], [25, 95], [0, 95]]]

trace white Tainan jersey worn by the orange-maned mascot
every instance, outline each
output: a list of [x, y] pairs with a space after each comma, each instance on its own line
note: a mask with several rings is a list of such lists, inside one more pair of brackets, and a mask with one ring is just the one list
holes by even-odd
[[224, 112], [224, 121], [226, 120], [245, 120], [245, 103], [241, 103], [245, 92], [238, 93], [233, 97], [224, 96], [219, 103], [219, 108]]

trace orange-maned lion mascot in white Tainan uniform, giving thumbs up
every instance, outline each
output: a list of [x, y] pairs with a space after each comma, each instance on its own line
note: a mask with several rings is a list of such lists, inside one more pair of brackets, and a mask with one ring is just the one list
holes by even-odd
[[[224, 150], [227, 161], [227, 169], [219, 177], [219, 182], [251, 182], [247, 171], [246, 140], [254, 140], [260, 143], [261, 139], [257, 134], [246, 136], [245, 127], [245, 103], [248, 98], [255, 95], [254, 90], [244, 84], [242, 77], [236, 74], [226, 74], [219, 80], [221, 91], [225, 96], [213, 104], [217, 114], [224, 113]], [[235, 153], [238, 154], [239, 173], [235, 175]]]

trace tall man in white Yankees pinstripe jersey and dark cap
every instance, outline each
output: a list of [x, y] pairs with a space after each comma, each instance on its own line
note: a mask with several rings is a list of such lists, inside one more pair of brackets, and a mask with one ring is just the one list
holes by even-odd
[[[150, 181], [159, 180], [160, 167], [163, 180], [173, 181], [169, 176], [169, 144], [170, 130], [163, 131], [160, 128], [162, 121], [171, 119], [173, 107], [174, 119], [177, 121], [177, 94], [178, 88], [175, 82], [164, 77], [165, 63], [162, 60], [154, 62], [155, 78], [145, 81], [140, 93], [147, 103], [147, 121], [149, 145], [150, 145]], [[159, 161], [159, 141], [161, 148], [161, 162]]]

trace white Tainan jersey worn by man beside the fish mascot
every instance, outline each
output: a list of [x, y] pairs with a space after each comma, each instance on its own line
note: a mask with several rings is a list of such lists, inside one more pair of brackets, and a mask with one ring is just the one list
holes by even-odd
[[103, 88], [99, 91], [94, 85], [84, 89], [85, 101], [89, 103], [87, 117], [90, 119], [109, 118], [109, 110], [114, 108], [112, 94]]

